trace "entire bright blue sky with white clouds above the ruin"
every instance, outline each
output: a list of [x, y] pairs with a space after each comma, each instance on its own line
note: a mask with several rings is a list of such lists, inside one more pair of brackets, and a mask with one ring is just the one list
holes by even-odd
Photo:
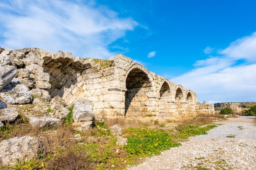
[[0, 46], [122, 53], [199, 102], [254, 102], [255, 8], [254, 0], [1, 0]]

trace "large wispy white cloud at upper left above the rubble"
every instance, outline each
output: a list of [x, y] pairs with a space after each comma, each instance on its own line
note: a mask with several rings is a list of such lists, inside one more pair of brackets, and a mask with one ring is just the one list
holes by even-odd
[[38, 47], [99, 58], [114, 55], [108, 45], [139, 25], [93, 0], [4, 0], [0, 18], [2, 47]]

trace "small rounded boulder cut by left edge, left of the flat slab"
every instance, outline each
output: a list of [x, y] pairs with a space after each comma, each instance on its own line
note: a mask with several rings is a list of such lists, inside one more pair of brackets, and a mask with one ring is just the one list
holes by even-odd
[[3, 108], [0, 109], [0, 121], [15, 121], [18, 117], [18, 112], [15, 108]]

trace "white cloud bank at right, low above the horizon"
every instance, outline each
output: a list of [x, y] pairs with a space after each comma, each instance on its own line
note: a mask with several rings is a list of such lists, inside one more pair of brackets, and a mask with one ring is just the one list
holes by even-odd
[[[171, 81], [195, 91], [200, 102], [256, 101], [256, 33], [232, 42], [219, 54], [196, 61], [195, 69]], [[238, 60], [243, 63], [237, 65]]]

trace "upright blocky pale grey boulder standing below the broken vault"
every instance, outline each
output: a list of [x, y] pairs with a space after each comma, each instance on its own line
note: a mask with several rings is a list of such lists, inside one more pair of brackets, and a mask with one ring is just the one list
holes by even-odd
[[74, 121], [93, 121], [95, 117], [92, 111], [93, 106], [92, 102], [88, 99], [76, 99], [74, 101], [74, 108], [72, 112]]

